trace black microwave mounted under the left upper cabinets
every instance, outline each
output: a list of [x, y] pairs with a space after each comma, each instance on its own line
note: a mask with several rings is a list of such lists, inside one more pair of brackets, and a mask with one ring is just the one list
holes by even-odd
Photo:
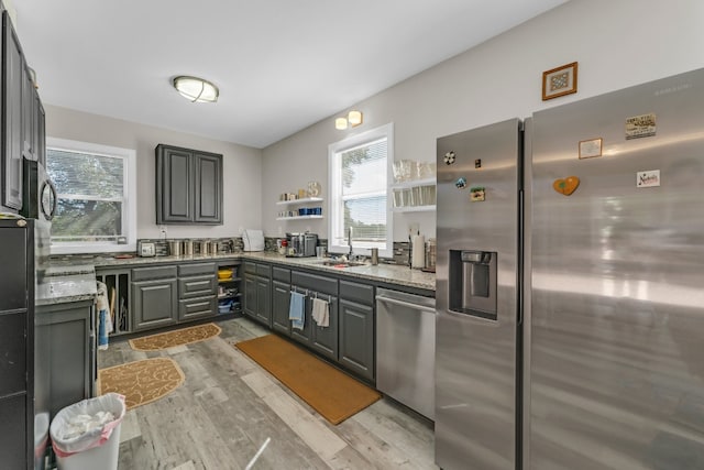
[[44, 165], [35, 160], [22, 161], [22, 209], [28, 219], [52, 220], [56, 214], [56, 188]]

